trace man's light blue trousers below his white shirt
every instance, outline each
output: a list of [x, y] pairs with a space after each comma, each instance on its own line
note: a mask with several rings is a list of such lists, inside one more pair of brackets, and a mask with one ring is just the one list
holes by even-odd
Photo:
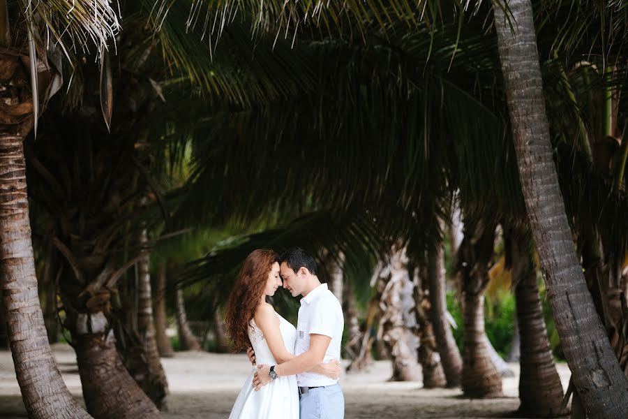
[[313, 388], [299, 395], [301, 419], [343, 419], [345, 417], [345, 395], [340, 385]]

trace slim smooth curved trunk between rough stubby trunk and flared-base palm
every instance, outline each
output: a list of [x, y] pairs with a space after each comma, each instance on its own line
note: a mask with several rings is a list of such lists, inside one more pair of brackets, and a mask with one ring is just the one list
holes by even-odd
[[439, 243], [428, 253], [430, 318], [442, 369], [447, 377], [447, 387], [453, 388], [460, 386], [463, 364], [454, 334], [447, 321], [444, 273], [444, 252], [442, 244]]

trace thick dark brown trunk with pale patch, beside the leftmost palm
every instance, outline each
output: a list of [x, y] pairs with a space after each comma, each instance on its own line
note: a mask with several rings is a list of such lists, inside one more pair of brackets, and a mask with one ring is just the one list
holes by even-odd
[[[38, 189], [31, 192], [41, 193], [45, 198], [51, 209], [50, 221], [55, 223], [52, 243], [63, 255], [59, 258], [62, 272], [59, 294], [66, 312], [64, 326], [72, 336], [87, 409], [95, 418], [159, 418], [151, 399], [122, 364], [111, 331], [116, 325], [112, 294], [118, 279], [138, 257], [126, 263], [117, 257], [124, 235], [121, 229], [128, 220], [125, 215], [130, 216], [125, 213], [130, 212], [128, 206], [133, 201], [127, 202], [123, 209], [116, 207], [119, 200], [112, 195], [128, 187], [125, 176], [128, 172], [124, 170], [125, 163], [128, 168], [128, 160], [110, 150], [109, 147], [114, 149], [117, 145], [113, 140], [106, 147], [101, 144], [101, 148], [95, 140], [81, 138], [84, 147], [77, 147], [76, 154], [70, 155], [55, 153], [54, 149], [76, 138], [68, 136], [63, 141], [58, 139], [58, 143], [53, 140], [51, 136], [46, 142], [39, 142], [38, 149], [31, 149], [33, 176], [40, 175]], [[85, 154], [81, 156], [79, 152], [90, 159], [81, 159]], [[112, 158], [119, 163], [117, 177], [111, 177], [108, 170], [97, 170], [107, 166]], [[98, 162], [96, 168], [91, 165], [93, 161]], [[52, 175], [57, 170], [67, 174], [64, 178], [70, 183], [67, 189]], [[84, 182], [82, 170], [90, 170], [90, 182]], [[99, 187], [103, 180], [109, 186], [104, 191]], [[93, 200], [86, 201], [82, 196]], [[96, 207], [103, 210], [94, 212]]]

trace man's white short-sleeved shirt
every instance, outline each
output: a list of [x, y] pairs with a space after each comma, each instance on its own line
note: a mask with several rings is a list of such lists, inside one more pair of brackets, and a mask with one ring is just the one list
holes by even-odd
[[[344, 327], [343, 308], [340, 302], [329, 291], [327, 284], [320, 284], [301, 298], [294, 355], [301, 355], [310, 348], [310, 335], [325, 335], [331, 337], [331, 342], [329, 342], [323, 362], [340, 360]], [[338, 380], [332, 380], [321, 374], [304, 372], [297, 374], [297, 383], [300, 387], [319, 387], [334, 385], [338, 383]]]

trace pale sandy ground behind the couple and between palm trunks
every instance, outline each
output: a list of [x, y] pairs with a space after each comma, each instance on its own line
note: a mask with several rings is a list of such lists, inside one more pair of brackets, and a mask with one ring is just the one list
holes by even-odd
[[[59, 370], [72, 394], [82, 403], [75, 355], [67, 345], [54, 345]], [[246, 355], [179, 352], [163, 359], [170, 395], [167, 419], [227, 418], [242, 383], [251, 372]], [[389, 361], [377, 361], [365, 372], [345, 374], [347, 419], [379, 418], [509, 418], [518, 407], [518, 365], [514, 378], [504, 378], [504, 395], [498, 399], [467, 399], [460, 390], [421, 388], [421, 382], [387, 382]], [[569, 369], [558, 365], [563, 387]], [[26, 418], [10, 352], [0, 351], [0, 418]]]

